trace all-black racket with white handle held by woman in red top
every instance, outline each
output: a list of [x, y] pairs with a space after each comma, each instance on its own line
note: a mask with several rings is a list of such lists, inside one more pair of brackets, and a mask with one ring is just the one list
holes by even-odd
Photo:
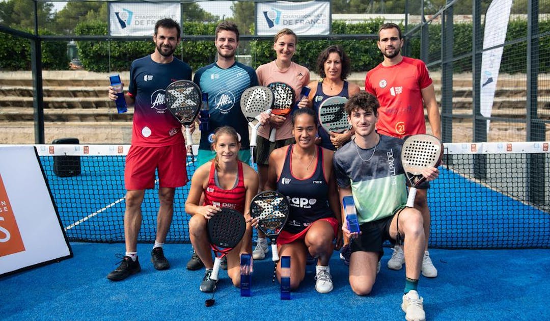
[[212, 280], [218, 280], [219, 266], [222, 259], [242, 240], [246, 231], [243, 213], [237, 210], [222, 208], [207, 223], [208, 241], [216, 255], [212, 268]]

